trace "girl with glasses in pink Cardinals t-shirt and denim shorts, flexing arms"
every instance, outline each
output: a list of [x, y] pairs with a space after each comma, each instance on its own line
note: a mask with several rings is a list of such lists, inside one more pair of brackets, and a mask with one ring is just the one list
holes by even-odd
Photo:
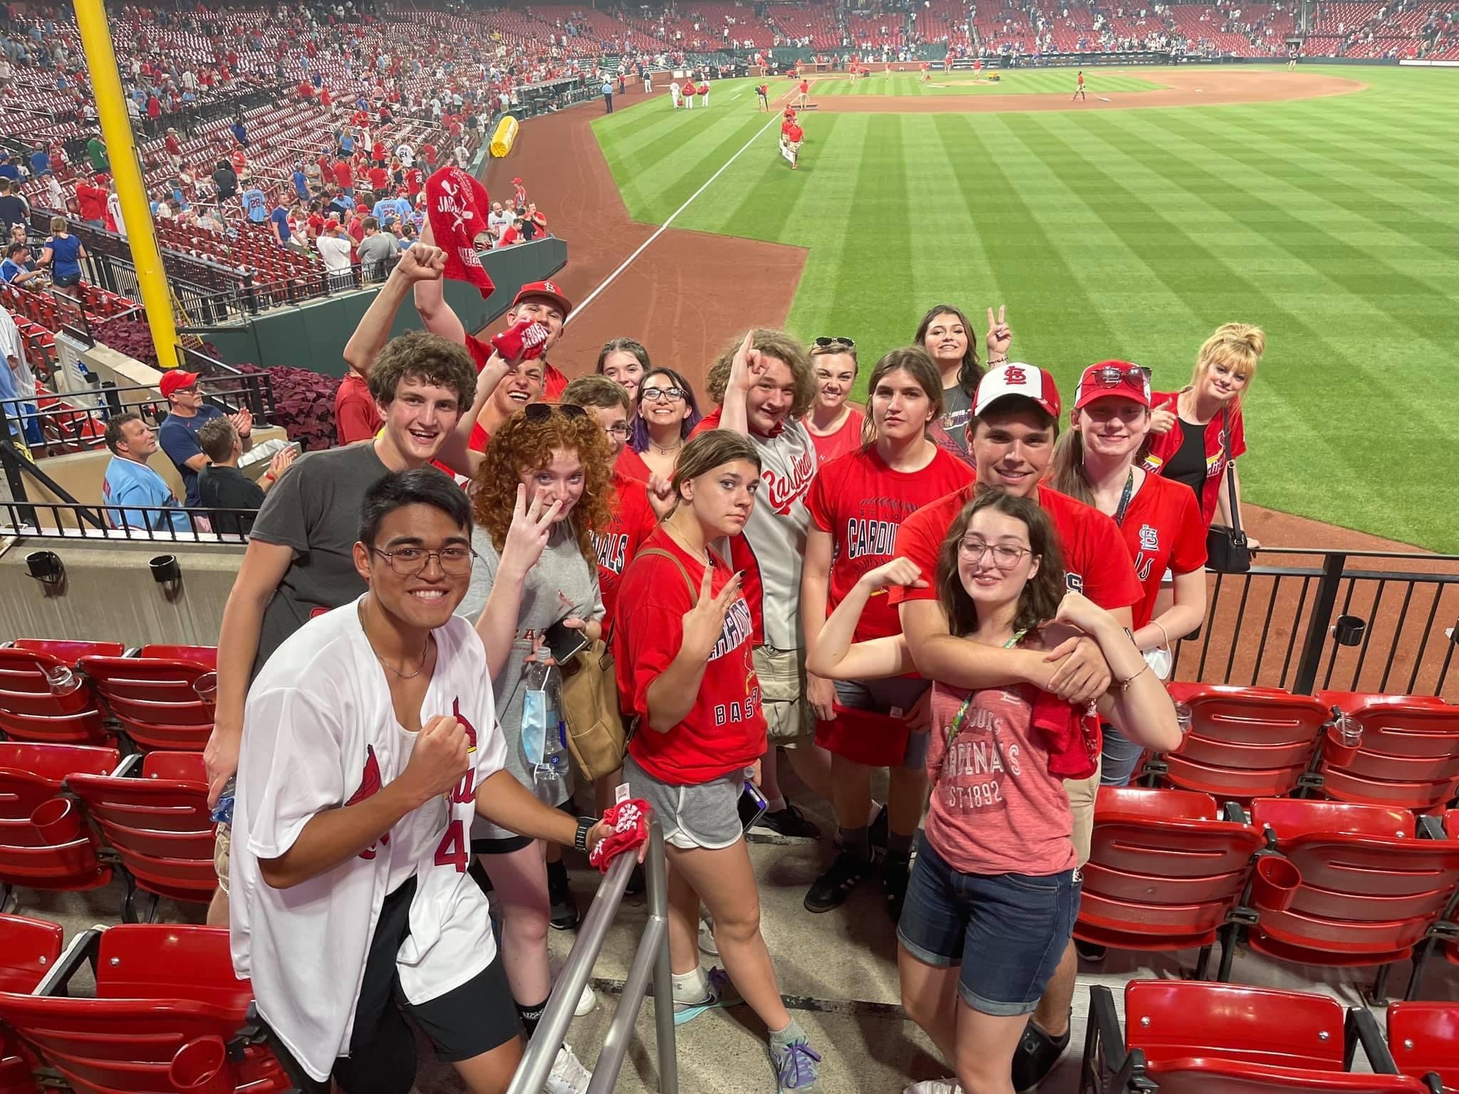
[[[826, 620], [808, 668], [833, 680], [915, 671], [902, 636], [852, 637], [874, 594], [929, 583], [951, 633], [982, 645], [1049, 649], [1071, 630], [1093, 637], [1113, 675], [1100, 713], [1148, 748], [1179, 745], [1170, 696], [1129, 632], [1065, 592], [1048, 513], [1002, 490], [963, 508], [935, 575], [910, 559], [864, 575]], [[1014, 1050], [1078, 916], [1074, 818], [1050, 766], [1083, 719], [1032, 684], [966, 691], [934, 683], [931, 713], [932, 795], [897, 926], [902, 1005], [963, 1090], [1010, 1091]], [[953, 1088], [938, 1082], [907, 1090]]]

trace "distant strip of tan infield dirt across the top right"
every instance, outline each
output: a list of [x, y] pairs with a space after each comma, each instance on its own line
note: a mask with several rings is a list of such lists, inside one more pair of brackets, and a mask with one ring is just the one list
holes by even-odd
[[[1015, 80], [1018, 71], [1008, 76]], [[1072, 102], [1067, 95], [836, 95], [820, 99], [817, 114], [1002, 114], [1008, 111], [1084, 111], [1134, 109], [1145, 106], [1220, 106], [1231, 102], [1281, 102], [1317, 99], [1326, 95], [1351, 95], [1367, 88], [1341, 76], [1316, 76], [1280, 69], [1261, 71], [1223, 71], [1196, 69], [1161, 71], [1145, 76], [1161, 83], [1156, 90], [1110, 92], [1099, 89], [1097, 73], [1085, 88], [1087, 101]], [[817, 77], [840, 79], [840, 77]], [[1074, 76], [1069, 76], [1069, 95]], [[816, 101], [816, 82], [811, 83]]]

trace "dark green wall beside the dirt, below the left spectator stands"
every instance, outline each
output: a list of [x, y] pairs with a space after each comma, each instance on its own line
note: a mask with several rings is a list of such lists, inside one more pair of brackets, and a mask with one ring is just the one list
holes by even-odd
[[[568, 264], [568, 244], [550, 236], [505, 251], [487, 251], [481, 264], [496, 284], [483, 299], [465, 282], [446, 282], [446, 302], [461, 317], [461, 325], [479, 331], [512, 306], [512, 298], [527, 282], [552, 277]], [[344, 346], [378, 289], [311, 300], [298, 308], [276, 308], [236, 327], [193, 328], [217, 347], [228, 365], [290, 365], [328, 376], [344, 375]], [[391, 337], [420, 330], [420, 317], [407, 302], [395, 317]]]

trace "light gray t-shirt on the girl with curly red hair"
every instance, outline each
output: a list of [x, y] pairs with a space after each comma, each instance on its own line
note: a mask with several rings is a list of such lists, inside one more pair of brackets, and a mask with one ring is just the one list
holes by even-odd
[[[481, 528], [471, 529], [471, 547], [476, 548], [479, 557], [471, 567], [471, 583], [457, 608], [457, 614], [476, 623], [492, 592], [492, 582], [496, 579], [496, 567], [500, 565], [502, 556], [492, 543], [492, 537]], [[492, 681], [492, 693], [496, 696], [496, 716], [500, 719], [502, 734], [506, 737], [506, 770], [527, 789], [533, 789], [533, 766], [527, 761], [527, 751], [522, 747], [527, 658], [533, 652], [533, 637], [540, 636], [553, 623], [560, 623], [569, 616], [601, 620], [604, 611], [603, 594], [598, 591], [597, 559], [588, 560], [582, 556], [572, 527], [563, 522], [553, 531], [537, 565], [527, 573], [522, 602], [516, 611], [516, 637], [506, 664]], [[570, 791], [569, 782], [563, 788], [560, 801], [553, 804], [560, 805], [568, 799]], [[477, 817], [471, 826], [473, 839], [506, 839], [514, 834], [481, 817]]]

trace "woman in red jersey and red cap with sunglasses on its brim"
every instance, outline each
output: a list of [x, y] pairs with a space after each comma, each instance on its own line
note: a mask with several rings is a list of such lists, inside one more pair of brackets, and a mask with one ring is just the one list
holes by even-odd
[[[1172, 642], [1205, 618], [1205, 524], [1191, 490], [1137, 465], [1150, 436], [1150, 373], [1128, 360], [1090, 365], [1074, 394], [1072, 426], [1049, 481], [1119, 525], [1144, 594], [1134, 608], [1135, 646], [1166, 678]], [[1128, 785], [1139, 754], [1104, 726], [1100, 783]]]

